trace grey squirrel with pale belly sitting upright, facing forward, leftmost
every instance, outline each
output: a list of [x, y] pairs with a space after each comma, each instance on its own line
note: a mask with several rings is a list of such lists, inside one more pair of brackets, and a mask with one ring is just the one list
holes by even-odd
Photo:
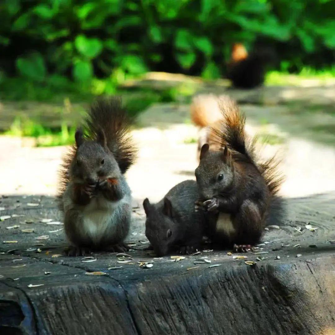
[[76, 131], [76, 145], [64, 158], [59, 187], [65, 233], [72, 245], [69, 255], [128, 249], [124, 239], [131, 191], [124, 173], [136, 155], [129, 124], [121, 101], [112, 98], [92, 105], [85, 135]]

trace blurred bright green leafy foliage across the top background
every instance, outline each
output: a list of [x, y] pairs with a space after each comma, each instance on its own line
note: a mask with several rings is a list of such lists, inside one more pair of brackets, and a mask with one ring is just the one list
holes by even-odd
[[334, 12], [332, 0], [2, 0], [0, 89], [112, 94], [147, 70], [215, 79], [234, 42], [273, 47], [278, 70], [322, 68]]

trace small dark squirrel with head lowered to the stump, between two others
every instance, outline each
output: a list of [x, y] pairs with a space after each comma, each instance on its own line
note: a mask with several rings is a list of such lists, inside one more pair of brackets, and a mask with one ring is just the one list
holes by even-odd
[[199, 198], [197, 183], [186, 180], [174, 186], [157, 204], [143, 201], [146, 213], [145, 235], [155, 253], [190, 254], [200, 248], [204, 215], [196, 211], [194, 202]]

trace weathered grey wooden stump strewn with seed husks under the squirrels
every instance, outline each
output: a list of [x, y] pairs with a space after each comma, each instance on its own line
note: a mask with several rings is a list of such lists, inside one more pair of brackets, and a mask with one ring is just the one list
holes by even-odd
[[[0, 215], [14, 214], [0, 222], [0, 334], [335, 332], [335, 193], [287, 199], [285, 221], [266, 231], [262, 240], [270, 243], [259, 246], [268, 253], [240, 260], [229, 250], [178, 262], [154, 258], [143, 250], [148, 244], [139, 242], [144, 214], [135, 208], [129, 240], [136, 246], [129, 252], [133, 260], [124, 264], [111, 253], [94, 254], [93, 262], [55, 256], [66, 246], [63, 231], [55, 231], [62, 225], [40, 222], [60, 219], [53, 198], [0, 200]], [[20, 227], [6, 229], [15, 225]], [[49, 238], [37, 239], [43, 235]], [[261, 256], [267, 258], [257, 260]], [[201, 257], [211, 263], [195, 265]], [[139, 261], [153, 261], [153, 267]], [[209, 268], [213, 264], [220, 266]], [[93, 271], [105, 275], [86, 274]]]

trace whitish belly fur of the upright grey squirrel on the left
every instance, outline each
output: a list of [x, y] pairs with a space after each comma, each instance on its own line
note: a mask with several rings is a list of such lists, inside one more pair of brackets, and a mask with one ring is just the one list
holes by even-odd
[[[93, 243], [99, 243], [105, 235], [107, 227], [113, 222], [114, 211], [122, 200], [111, 202], [98, 197], [93, 198], [86, 206], [83, 211], [82, 232], [91, 238]], [[113, 234], [112, 227], [109, 227], [109, 234]]]

